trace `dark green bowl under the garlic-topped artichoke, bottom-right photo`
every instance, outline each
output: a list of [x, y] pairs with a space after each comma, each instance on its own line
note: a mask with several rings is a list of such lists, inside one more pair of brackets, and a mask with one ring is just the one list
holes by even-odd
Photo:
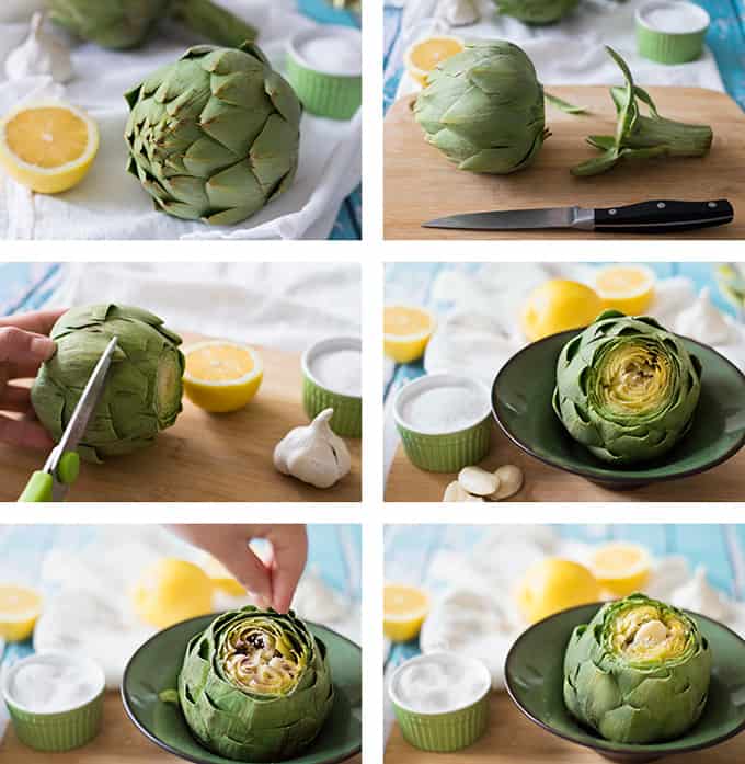
[[[709, 700], [699, 722], [683, 738], [654, 745], [611, 743], [576, 721], [564, 706], [564, 650], [575, 626], [588, 624], [600, 605], [583, 605], [541, 620], [513, 645], [505, 663], [509, 697], [548, 732], [595, 749], [617, 762], [651, 762], [717, 745], [745, 729], [745, 641], [726, 626], [696, 613], [711, 645]], [[695, 760], [694, 760], [695, 761]]]

